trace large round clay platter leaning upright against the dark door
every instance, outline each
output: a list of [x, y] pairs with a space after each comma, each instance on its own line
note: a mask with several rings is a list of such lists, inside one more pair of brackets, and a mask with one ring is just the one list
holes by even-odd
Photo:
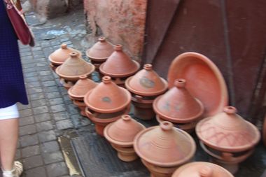
[[228, 105], [228, 90], [221, 71], [204, 55], [185, 52], [177, 56], [169, 67], [169, 88], [174, 87], [177, 78], [186, 79], [186, 89], [202, 101], [205, 118], [222, 112]]

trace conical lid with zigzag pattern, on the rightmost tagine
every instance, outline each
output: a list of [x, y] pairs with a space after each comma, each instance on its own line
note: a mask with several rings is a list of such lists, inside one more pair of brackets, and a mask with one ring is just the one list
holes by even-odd
[[237, 115], [237, 109], [232, 106], [225, 106], [222, 113], [201, 120], [196, 133], [207, 146], [232, 153], [248, 150], [260, 140], [258, 128]]

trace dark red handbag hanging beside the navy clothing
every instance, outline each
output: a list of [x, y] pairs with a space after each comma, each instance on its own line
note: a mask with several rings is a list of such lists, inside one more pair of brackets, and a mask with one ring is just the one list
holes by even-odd
[[10, 22], [13, 25], [15, 33], [18, 36], [18, 39], [24, 45], [34, 46], [34, 36], [29, 29], [25, 17], [20, 13], [20, 11], [15, 7], [13, 1], [4, 0], [6, 3], [6, 12], [8, 13], [8, 17]]

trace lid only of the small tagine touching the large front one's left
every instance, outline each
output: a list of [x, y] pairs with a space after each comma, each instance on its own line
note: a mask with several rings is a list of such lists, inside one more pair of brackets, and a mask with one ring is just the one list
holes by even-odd
[[133, 146], [135, 136], [143, 129], [144, 125], [132, 119], [130, 115], [122, 115], [122, 118], [107, 125], [104, 137], [119, 146]]

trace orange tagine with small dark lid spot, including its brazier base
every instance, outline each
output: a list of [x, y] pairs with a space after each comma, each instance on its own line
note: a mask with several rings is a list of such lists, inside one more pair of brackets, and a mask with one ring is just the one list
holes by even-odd
[[109, 76], [104, 76], [102, 83], [87, 92], [85, 113], [94, 122], [97, 134], [103, 136], [106, 125], [130, 112], [130, 100], [130, 92], [118, 87]]

